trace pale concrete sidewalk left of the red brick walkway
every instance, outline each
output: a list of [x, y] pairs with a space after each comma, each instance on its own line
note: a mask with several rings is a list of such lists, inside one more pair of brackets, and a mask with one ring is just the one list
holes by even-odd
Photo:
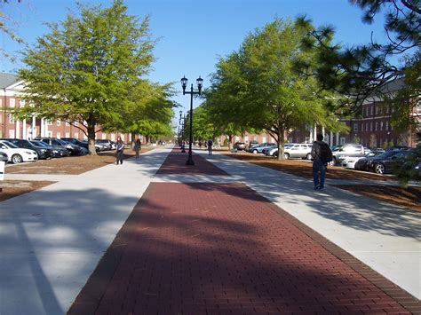
[[65, 313], [169, 152], [0, 202], [0, 314]]

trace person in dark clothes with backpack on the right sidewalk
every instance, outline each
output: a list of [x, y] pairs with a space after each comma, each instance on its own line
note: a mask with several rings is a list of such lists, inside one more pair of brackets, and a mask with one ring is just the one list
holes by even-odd
[[323, 142], [323, 135], [318, 133], [312, 146], [314, 190], [324, 189], [324, 180], [328, 163], [332, 161], [330, 146]]

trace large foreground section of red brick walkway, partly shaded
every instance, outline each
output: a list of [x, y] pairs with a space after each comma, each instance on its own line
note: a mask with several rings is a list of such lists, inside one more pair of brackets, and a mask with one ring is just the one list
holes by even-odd
[[359, 264], [245, 185], [152, 183], [69, 313], [421, 311]]

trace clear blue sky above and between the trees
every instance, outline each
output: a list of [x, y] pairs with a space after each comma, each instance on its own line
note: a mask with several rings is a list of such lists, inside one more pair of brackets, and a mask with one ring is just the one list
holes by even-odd
[[[85, 1], [103, 4], [110, 0]], [[186, 75], [190, 83], [202, 75], [204, 87], [209, 86], [209, 75], [215, 71], [218, 56], [237, 50], [248, 32], [262, 28], [274, 17], [296, 18], [306, 14], [314, 25], [331, 25], [336, 29], [336, 40], [346, 46], [368, 43], [371, 31], [375, 38], [384, 38], [383, 25], [377, 19], [374, 25], [361, 22], [361, 10], [347, 0], [126, 0], [132, 15], [151, 16], [150, 29], [154, 38], [160, 38], [155, 47], [155, 70], [150, 78], [155, 82], [176, 82]], [[0, 4], [5, 12], [19, 22], [16, 28], [27, 43], [35, 43], [48, 28], [44, 22], [64, 20], [68, 8], [75, 10], [74, 0], [23, 0], [17, 4]], [[0, 44], [8, 51], [18, 49], [4, 35]], [[13, 72], [20, 64], [0, 60], [0, 71]], [[174, 98], [182, 106], [189, 106], [189, 97], [181, 93]], [[197, 101], [195, 101], [195, 106]]]

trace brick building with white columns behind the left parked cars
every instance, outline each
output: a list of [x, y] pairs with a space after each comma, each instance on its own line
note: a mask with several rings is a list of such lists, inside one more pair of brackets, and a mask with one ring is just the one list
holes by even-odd
[[[16, 120], [8, 109], [26, 106], [24, 100], [20, 100], [22, 91], [22, 81], [17, 75], [0, 73], [0, 138], [25, 138], [36, 137], [53, 138], [80, 138], [87, 139], [83, 130], [75, 125], [60, 120], [51, 122], [44, 118], [33, 116], [29, 120]], [[5, 110], [4, 110], [5, 109]], [[96, 138], [109, 139], [115, 141], [117, 136], [121, 136], [124, 142], [131, 141], [130, 134], [97, 132]], [[142, 138], [142, 137], [140, 137]]]

